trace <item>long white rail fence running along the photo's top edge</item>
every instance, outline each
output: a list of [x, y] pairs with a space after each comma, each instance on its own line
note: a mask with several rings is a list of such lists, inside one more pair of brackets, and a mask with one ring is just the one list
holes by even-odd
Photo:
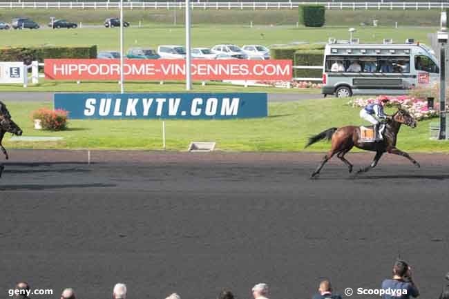
[[[321, 4], [329, 10], [443, 10], [449, 8], [448, 2], [191, 2], [193, 10], [273, 10], [296, 9], [301, 4]], [[0, 8], [57, 8], [57, 9], [118, 9], [119, 2], [0, 2]], [[125, 9], [153, 9], [171, 10], [184, 8], [184, 1], [180, 2], [124, 2]]]

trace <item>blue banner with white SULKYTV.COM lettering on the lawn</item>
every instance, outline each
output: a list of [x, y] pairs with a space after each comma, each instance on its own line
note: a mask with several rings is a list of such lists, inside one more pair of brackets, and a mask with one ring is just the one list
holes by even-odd
[[70, 119], [233, 119], [267, 117], [266, 93], [57, 93]]

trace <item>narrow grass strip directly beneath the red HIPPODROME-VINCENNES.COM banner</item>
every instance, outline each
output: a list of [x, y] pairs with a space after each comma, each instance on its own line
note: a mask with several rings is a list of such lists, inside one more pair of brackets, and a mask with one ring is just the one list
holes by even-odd
[[[18, 92], [108, 92], [120, 93], [120, 85], [116, 81], [85, 81], [76, 84], [73, 81], [51, 81], [40, 79], [42, 83], [29, 84], [28, 88], [23, 88], [20, 84], [1, 84], [1, 91], [18, 91]], [[160, 82], [148, 81], [126, 81], [126, 92], [135, 93], [175, 93], [186, 92], [186, 86], [183, 81], [166, 81], [164, 84]], [[201, 82], [194, 82], [192, 93], [321, 93], [317, 88], [275, 88], [263, 86], [238, 86], [232, 84], [224, 84], [221, 82], [207, 81], [205, 86]], [[0, 95], [1, 99], [1, 95]], [[8, 100], [8, 99], [4, 99]]]

